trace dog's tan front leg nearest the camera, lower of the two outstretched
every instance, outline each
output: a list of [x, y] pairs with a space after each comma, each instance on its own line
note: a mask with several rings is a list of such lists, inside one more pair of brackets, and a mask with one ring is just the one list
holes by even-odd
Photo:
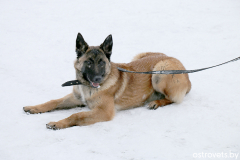
[[58, 122], [50, 122], [46, 125], [48, 129], [63, 129], [72, 126], [85, 126], [96, 122], [110, 121], [115, 115], [114, 99], [108, 99], [104, 104], [96, 106], [88, 112], [80, 112]]

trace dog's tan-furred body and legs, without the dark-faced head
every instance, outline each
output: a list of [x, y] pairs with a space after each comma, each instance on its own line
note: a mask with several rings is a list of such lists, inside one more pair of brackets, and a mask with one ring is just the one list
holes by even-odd
[[[81, 60], [80, 60], [81, 61]], [[75, 68], [81, 68], [82, 62], [76, 61]], [[117, 67], [132, 71], [184, 70], [181, 62], [163, 53], [141, 53], [128, 64], [109, 63], [108, 76], [99, 89], [84, 85], [73, 87], [73, 93], [44, 104], [24, 107], [26, 112], [43, 113], [62, 107], [74, 107], [86, 104], [91, 111], [80, 112], [58, 122], [47, 124], [51, 129], [71, 126], [90, 125], [111, 120], [116, 110], [130, 109], [144, 105], [155, 92], [165, 96], [149, 103], [150, 109], [171, 103], [181, 103], [191, 89], [188, 74], [160, 75], [134, 74], [120, 72]]]

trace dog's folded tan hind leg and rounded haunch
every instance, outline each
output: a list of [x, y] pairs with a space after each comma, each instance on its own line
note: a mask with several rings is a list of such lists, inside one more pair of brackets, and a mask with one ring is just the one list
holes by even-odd
[[[185, 68], [177, 59], [169, 58], [158, 62], [153, 70], [185, 70]], [[149, 109], [157, 109], [171, 103], [181, 103], [191, 89], [187, 74], [154, 74], [152, 85], [154, 90], [164, 94], [165, 98], [150, 102]]]

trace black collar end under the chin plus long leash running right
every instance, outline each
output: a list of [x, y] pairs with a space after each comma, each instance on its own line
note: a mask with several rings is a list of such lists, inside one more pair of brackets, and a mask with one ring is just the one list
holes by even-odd
[[[118, 67], [119, 71], [122, 72], [128, 72], [128, 73], [139, 73], [139, 74], [186, 74], [186, 73], [194, 73], [194, 72], [199, 72], [199, 71], [203, 71], [206, 69], [210, 69], [210, 68], [214, 68], [214, 67], [218, 67], [230, 62], [235, 62], [240, 60], [240, 57], [232, 59], [230, 61], [215, 65], [215, 66], [211, 66], [211, 67], [207, 67], [207, 68], [201, 68], [201, 69], [195, 69], [195, 70], [161, 70], [161, 71], [148, 71], [148, 72], [136, 72], [136, 71], [129, 71], [123, 68]], [[62, 87], [65, 86], [72, 86], [72, 85], [81, 85], [82, 83], [79, 80], [72, 80], [72, 81], [67, 81], [65, 83], [62, 84]]]

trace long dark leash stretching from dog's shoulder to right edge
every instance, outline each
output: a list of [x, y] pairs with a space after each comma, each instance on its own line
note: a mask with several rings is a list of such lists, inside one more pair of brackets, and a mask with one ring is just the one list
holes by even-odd
[[211, 67], [207, 67], [207, 68], [201, 68], [201, 69], [195, 69], [195, 70], [161, 70], [161, 71], [148, 71], [148, 72], [136, 72], [136, 71], [129, 71], [123, 68], [118, 67], [118, 70], [122, 71], [122, 72], [128, 72], [128, 73], [139, 73], [139, 74], [186, 74], [186, 73], [194, 73], [194, 72], [199, 72], [199, 71], [203, 71], [206, 69], [210, 69], [210, 68], [214, 68], [214, 67], [218, 67], [230, 62], [235, 62], [238, 61], [240, 59], [240, 57], [232, 59], [230, 61], [215, 65], [215, 66], [211, 66]]

